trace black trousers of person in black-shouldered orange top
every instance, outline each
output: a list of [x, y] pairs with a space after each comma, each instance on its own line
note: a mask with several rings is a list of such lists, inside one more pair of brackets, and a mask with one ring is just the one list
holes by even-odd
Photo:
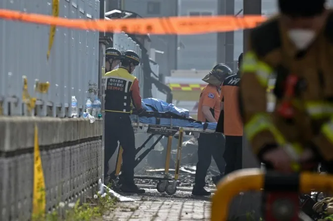
[[242, 136], [226, 136], [223, 158], [227, 164], [225, 175], [242, 168]]

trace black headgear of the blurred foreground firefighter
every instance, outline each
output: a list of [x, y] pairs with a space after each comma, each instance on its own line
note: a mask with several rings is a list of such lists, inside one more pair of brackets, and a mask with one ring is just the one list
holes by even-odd
[[312, 17], [325, 10], [326, 0], [279, 0], [282, 14], [290, 17]]

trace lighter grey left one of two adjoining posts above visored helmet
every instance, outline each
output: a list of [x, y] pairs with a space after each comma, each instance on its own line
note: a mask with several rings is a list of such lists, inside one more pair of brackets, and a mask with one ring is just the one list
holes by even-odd
[[[226, 14], [226, 0], [218, 0], [217, 2], [217, 14], [225, 15]], [[226, 62], [226, 33], [220, 32], [217, 33], [217, 63]]]

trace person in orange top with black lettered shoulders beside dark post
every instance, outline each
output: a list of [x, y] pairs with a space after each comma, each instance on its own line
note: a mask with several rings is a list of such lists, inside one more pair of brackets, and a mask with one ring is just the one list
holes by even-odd
[[[241, 121], [238, 108], [238, 90], [243, 53], [238, 57], [238, 72], [228, 76], [221, 86], [221, 113], [216, 127], [216, 132], [223, 133], [226, 138], [223, 158], [226, 161], [224, 175], [242, 168], [242, 136], [243, 122]], [[213, 177], [214, 184], [221, 176]]]

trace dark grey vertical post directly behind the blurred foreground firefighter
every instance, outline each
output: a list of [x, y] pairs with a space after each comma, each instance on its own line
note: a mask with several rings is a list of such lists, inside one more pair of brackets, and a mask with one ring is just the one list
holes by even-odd
[[[261, 0], [243, 0], [243, 14], [246, 15], [261, 15]], [[249, 31], [243, 31], [243, 52], [246, 53], [247, 45], [248, 45], [248, 38], [249, 38]], [[252, 151], [250, 150], [249, 144], [245, 136], [243, 136], [243, 168], [254, 168], [259, 167], [259, 162], [257, 161], [256, 157], [253, 155]]]

